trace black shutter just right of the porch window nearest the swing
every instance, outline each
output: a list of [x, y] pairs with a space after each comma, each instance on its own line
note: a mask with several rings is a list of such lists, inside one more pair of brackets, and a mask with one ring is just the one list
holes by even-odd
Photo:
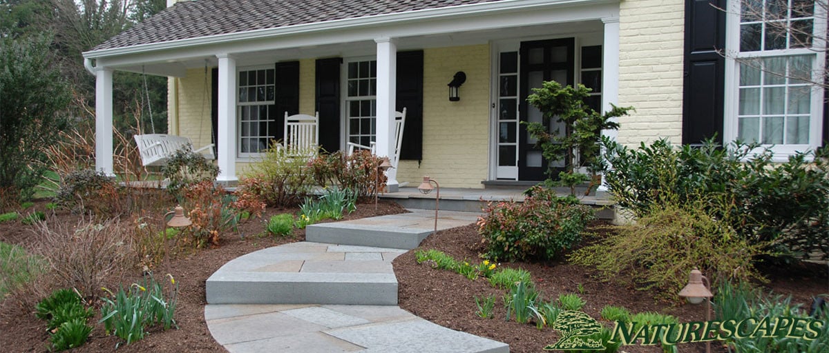
[[272, 107], [274, 122], [271, 122], [268, 129], [272, 131], [274, 139], [281, 140], [285, 135], [285, 112], [288, 115], [299, 113], [299, 61], [276, 63], [275, 69], [275, 100]]

